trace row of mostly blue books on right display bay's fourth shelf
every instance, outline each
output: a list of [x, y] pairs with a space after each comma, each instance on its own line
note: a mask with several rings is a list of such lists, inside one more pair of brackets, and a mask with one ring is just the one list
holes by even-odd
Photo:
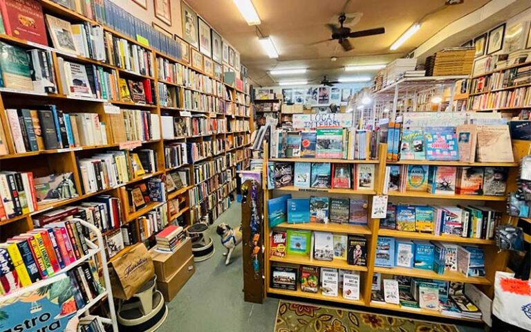
[[485, 277], [485, 252], [479, 246], [378, 237], [374, 265], [433, 270], [439, 275], [458, 271], [465, 277]]

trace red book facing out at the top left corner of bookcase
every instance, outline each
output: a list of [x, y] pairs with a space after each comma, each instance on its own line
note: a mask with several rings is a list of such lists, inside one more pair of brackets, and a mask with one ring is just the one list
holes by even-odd
[[6, 34], [48, 46], [44, 15], [39, 1], [2, 0], [0, 10]]

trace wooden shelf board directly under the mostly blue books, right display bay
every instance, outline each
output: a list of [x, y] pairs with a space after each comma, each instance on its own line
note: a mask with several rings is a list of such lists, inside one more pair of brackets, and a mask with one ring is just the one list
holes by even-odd
[[492, 282], [485, 277], [465, 277], [465, 275], [457, 271], [446, 271], [442, 275], [439, 275], [432, 270], [424, 270], [422, 268], [401, 268], [397, 266], [394, 268], [382, 268], [380, 266], [375, 266], [374, 272], [382, 273], [383, 275], [405, 275], [408, 277], [449, 280], [451, 282], [466, 282], [468, 284], [492, 284]]

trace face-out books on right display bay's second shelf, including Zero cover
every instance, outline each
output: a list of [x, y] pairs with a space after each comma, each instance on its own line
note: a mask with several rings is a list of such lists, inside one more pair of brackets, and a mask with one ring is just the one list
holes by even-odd
[[386, 166], [387, 192], [504, 196], [506, 167]]

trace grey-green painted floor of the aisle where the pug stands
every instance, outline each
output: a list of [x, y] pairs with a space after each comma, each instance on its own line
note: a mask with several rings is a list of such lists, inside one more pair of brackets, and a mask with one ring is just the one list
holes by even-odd
[[[244, 302], [241, 246], [234, 250], [229, 266], [225, 266], [225, 257], [221, 255], [225, 248], [216, 234], [216, 225], [225, 222], [236, 227], [240, 220], [241, 208], [236, 203], [211, 226], [216, 253], [196, 264], [192, 279], [168, 304], [169, 314], [159, 332], [273, 331], [278, 300], [268, 298], [264, 304]], [[464, 326], [460, 330], [483, 331]]]

